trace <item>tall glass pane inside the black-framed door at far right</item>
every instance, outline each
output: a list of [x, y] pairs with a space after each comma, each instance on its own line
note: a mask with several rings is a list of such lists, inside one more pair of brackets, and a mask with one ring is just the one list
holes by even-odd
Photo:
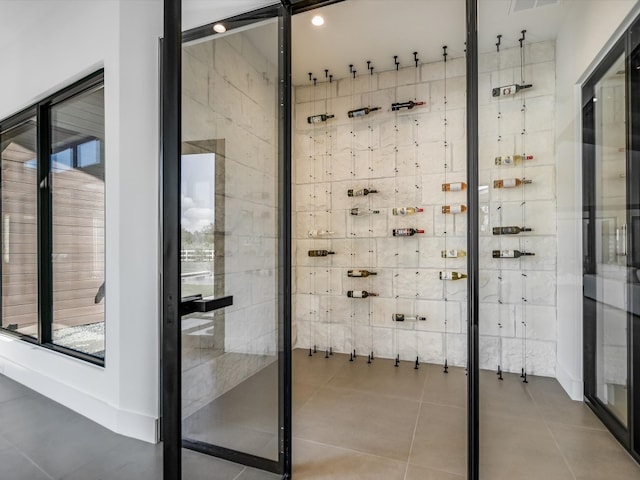
[[625, 57], [595, 86], [596, 395], [627, 424]]

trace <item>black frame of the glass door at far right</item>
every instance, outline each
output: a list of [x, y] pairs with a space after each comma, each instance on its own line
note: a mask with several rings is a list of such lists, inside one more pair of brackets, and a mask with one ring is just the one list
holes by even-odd
[[[626, 189], [627, 225], [633, 225], [633, 212], [638, 218], [640, 211], [640, 18], [636, 19], [622, 37], [607, 52], [604, 59], [582, 86], [582, 211], [583, 233], [586, 249], [583, 252], [584, 274], [596, 272], [595, 237], [595, 86], [614, 65], [621, 55], [625, 55], [626, 90]], [[585, 223], [588, 222], [588, 223]], [[584, 396], [587, 405], [605, 424], [629, 453], [640, 461], [640, 393], [635, 386], [640, 385], [640, 299], [634, 299], [634, 290], [640, 285], [633, 279], [640, 269], [640, 251], [634, 246], [633, 228], [627, 230], [627, 426], [624, 426], [597, 396], [596, 378], [596, 304], [588, 295], [585, 286], [583, 294], [583, 363]], [[635, 238], [635, 242], [640, 238]], [[586, 285], [588, 282], [583, 282]], [[634, 313], [635, 312], [635, 313]]]

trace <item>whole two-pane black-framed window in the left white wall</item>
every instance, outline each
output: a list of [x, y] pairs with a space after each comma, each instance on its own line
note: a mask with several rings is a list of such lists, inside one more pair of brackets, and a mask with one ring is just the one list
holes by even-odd
[[0, 121], [0, 327], [104, 364], [103, 72]]

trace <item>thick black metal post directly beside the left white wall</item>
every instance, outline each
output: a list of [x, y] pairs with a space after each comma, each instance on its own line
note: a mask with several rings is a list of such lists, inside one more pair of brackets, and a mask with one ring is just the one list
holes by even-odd
[[180, 145], [182, 2], [164, 0], [161, 57], [162, 439], [163, 479], [182, 476], [180, 338]]

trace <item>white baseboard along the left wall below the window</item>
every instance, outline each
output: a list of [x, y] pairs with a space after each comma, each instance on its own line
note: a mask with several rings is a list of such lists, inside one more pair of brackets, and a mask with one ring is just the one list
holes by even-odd
[[119, 409], [87, 392], [0, 357], [0, 373], [109, 430], [148, 443], [159, 441], [155, 417]]

